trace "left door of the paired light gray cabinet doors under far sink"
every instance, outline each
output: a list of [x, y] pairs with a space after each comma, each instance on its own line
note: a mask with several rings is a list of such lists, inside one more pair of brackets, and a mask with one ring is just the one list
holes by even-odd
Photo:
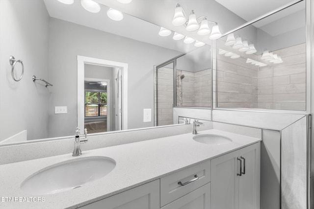
[[234, 151], [211, 160], [211, 209], [238, 209], [238, 154]]

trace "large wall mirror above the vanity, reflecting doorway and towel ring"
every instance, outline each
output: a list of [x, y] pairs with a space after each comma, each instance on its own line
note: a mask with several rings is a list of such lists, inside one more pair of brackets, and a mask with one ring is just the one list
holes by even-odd
[[[210, 86], [209, 45], [196, 47], [175, 41], [172, 35], [159, 36], [159, 26], [125, 13], [122, 21], [113, 21], [106, 15], [109, 7], [100, 6], [99, 13], [91, 13], [79, 0], [71, 5], [58, 0], [1, 0], [0, 141], [72, 136], [80, 115], [89, 133], [154, 127], [154, 66], [179, 55], [186, 54], [178, 58], [178, 66], [187, 62], [192, 66], [179, 68], [175, 75], [183, 91], [185, 82], [192, 85], [201, 77], [206, 78], [203, 84]], [[4, 20], [8, 22], [3, 24]], [[194, 50], [206, 51], [206, 66], [192, 55]], [[24, 77], [19, 82], [12, 80], [10, 55], [24, 63]], [[91, 61], [84, 63], [83, 80], [78, 83], [78, 56], [126, 64], [127, 76], [123, 77], [119, 66]], [[20, 75], [19, 64], [14, 73]], [[33, 75], [53, 86], [33, 82]], [[126, 80], [127, 86], [123, 86]], [[123, 88], [128, 90], [127, 99]], [[195, 95], [194, 103], [188, 103], [190, 99], [184, 100], [185, 92], [181, 92], [181, 105], [209, 108], [211, 90], [193, 83], [193, 91], [206, 94], [206, 101], [197, 103]], [[78, 104], [78, 94], [82, 104]], [[82, 111], [78, 112], [78, 106]], [[151, 110], [151, 118], [145, 122], [144, 109]]]

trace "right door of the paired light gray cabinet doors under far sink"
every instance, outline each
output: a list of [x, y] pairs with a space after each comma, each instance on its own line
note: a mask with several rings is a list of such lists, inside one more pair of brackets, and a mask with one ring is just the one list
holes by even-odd
[[239, 150], [242, 176], [239, 177], [239, 209], [260, 208], [260, 143]]

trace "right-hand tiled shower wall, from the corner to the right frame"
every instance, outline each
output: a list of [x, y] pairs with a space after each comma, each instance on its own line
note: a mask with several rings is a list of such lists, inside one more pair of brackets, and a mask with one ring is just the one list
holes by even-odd
[[[305, 110], [305, 44], [273, 51], [283, 63], [267, 64], [258, 72], [258, 108]], [[259, 56], [260, 58], [261, 56]]]

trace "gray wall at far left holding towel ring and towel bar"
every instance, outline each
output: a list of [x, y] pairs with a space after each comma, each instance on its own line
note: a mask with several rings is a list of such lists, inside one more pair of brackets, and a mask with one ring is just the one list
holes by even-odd
[[[31, 79], [36, 75], [50, 82], [49, 15], [45, 4], [37, 0], [0, 0], [0, 25], [0, 140], [23, 130], [27, 130], [27, 138], [47, 138], [47, 110], [53, 87], [45, 88], [42, 82]], [[24, 63], [24, 77], [19, 82], [11, 77], [11, 55]], [[19, 63], [16, 70], [19, 78]]]

